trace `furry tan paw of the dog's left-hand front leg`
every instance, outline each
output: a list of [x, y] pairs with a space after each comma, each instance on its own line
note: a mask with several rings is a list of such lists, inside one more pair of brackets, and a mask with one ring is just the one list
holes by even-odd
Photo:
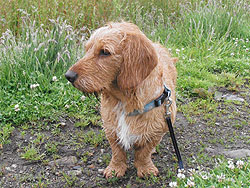
[[113, 176], [122, 177], [127, 170], [127, 165], [123, 164], [120, 166], [109, 165], [103, 172], [103, 175], [108, 179]]

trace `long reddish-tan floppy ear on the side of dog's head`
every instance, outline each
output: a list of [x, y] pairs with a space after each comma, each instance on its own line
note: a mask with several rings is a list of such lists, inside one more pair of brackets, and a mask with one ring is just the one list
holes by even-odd
[[158, 57], [151, 41], [142, 33], [127, 34], [123, 44], [117, 84], [121, 90], [133, 89], [155, 68]]

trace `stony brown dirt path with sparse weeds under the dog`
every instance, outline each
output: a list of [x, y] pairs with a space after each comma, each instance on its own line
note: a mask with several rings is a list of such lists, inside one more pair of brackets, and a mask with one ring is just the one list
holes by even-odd
[[[189, 109], [178, 112], [174, 129], [185, 169], [209, 170], [214, 167], [214, 156], [230, 157], [227, 152], [231, 151], [237, 157], [240, 154], [235, 150], [250, 149], [249, 82], [239, 91], [226, 88], [216, 91], [222, 97], [217, 99], [214, 110], [203, 109], [199, 114], [190, 108], [190, 112]], [[234, 98], [226, 100], [228, 96]], [[182, 100], [179, 105], [192, 100]], [[106, 180], [102, 172], [111, 158], [111, 149], [105, 136], [99, 133], [101, 127], [76, 127], [79, 120], [68, 117], [59, 120], [65, 123], [44, 122], [43, 126], [31, 123], [27, 129], [15, 129], [11, 143], [0, 149], [0, 187], [168, 187], [171, 177], [176, 175], [176, 157], [170, 135], [166, 134], [153, 154], [160, 172], [158, 177], [138, 178], [131, 150], [126, 175]], [[27, 146], [38, 151], [29, 160], [22, 155]]]

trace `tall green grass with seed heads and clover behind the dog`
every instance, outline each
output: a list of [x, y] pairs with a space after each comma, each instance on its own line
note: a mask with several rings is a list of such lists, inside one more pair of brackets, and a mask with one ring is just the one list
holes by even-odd
[[248, 1], [13, 0], [0, 7], [0, 123], [50, 117], [70, 94], [79, 98], [63, 74], [83, 56], [91, 31], [108, 21], [137, 24], [179, 57], [180, 95], [250, 76]]

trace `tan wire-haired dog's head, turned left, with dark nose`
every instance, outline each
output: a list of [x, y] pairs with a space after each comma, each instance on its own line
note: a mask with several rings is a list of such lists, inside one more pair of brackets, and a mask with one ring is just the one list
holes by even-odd
[[114, 85], [129, 90], [146, 79], [157, 62], [152, 42], [136, 25], [111, 23], [93, 33], [85, 56], [65, 76], [83, 92], [99, 92]]

